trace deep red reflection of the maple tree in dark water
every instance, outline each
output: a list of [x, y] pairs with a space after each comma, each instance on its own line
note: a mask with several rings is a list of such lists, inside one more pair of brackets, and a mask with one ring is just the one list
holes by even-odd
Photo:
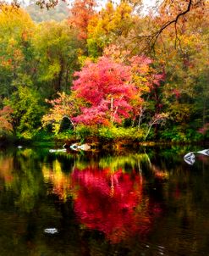
[[[161, 209], [142, 198], [142, 176], [134, 171], [74, 170], [80, 186], [74, 210], [80, 222], [104, 232], [111, 242], [120, 242], [137, 232], [146, 233]], [[151, 210], [151, 213], [150, 213]]]

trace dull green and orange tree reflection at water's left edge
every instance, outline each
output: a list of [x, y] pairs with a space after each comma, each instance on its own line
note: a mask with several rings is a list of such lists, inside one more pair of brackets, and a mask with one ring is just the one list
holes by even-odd
[[0, 178], [3, 186], [14, 194], [14, 205], [29, 212], [41, 191], [42, 177], [36, 170], [36, 153], [31, 149], [0, 154]]

